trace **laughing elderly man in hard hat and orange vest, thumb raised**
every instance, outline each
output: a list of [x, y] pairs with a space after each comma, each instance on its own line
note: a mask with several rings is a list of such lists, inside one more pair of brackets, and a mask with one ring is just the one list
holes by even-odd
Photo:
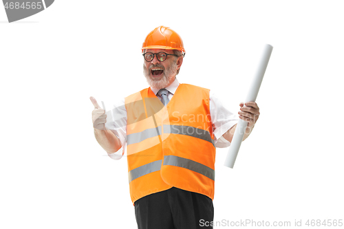
[[[114, 159], [127, 145], [138, 228], [207, 228], [201, 222], [214, 217], [215, 147], [229, 146], [237, 116], [213, 91], [178, 82], [185, 50], [176, 32], [155, 28], [142, 52], [150, 87], [122, 101], [115, 112], [122, 118], [107, 120], [90, 98], [96, 140]], [[245, 105], [239, 104], [239, 118], [248, 122], [244, 140], [259, 117], [255, 102]]]

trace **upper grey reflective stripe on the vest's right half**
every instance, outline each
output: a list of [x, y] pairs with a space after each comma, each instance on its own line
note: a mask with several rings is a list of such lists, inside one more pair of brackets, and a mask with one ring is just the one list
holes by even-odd
[[211, 142], [211, 144], [215, 146], [214, 140], [211, 138], [211, 133], [205, 131], [204, 129], [198, 129], [189, 126], [164, 125], [164, 133], [175, 133], [200, 138], [202, 140]]

